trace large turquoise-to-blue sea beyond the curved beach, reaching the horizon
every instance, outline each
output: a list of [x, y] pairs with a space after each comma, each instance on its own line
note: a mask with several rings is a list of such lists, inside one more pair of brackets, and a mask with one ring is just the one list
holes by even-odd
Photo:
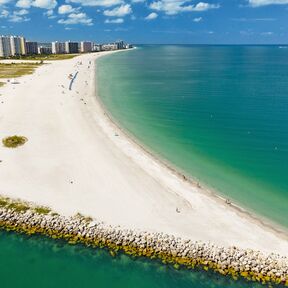
[[288, 49], [141, 46], [98, 61], [99, 95], [150, 150], [288, 227]]

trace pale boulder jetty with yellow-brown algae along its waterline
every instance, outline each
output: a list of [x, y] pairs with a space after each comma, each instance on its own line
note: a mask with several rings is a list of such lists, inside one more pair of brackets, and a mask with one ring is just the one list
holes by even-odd
[[201, 267], [234, 279], [243, 277], [263, 284], [288, 286], [288, 258], [278, 254], [264, 255], [259, 251], [219, 247], [163, 233], [121, 229], [80, 214], [65, 217], [49, 208], [9, 198], [0, 197], [0, 229], [43, 234], [64, 239], [70, 244], [106, 247], [112, 256], [122, 251], [133, 256], [160, 259], [175, 268]]

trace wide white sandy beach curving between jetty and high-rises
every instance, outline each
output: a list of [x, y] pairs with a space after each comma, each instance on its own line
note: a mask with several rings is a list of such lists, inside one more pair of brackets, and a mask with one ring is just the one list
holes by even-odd
[[0, 138], [28, 138], [17, 149], [0, 146], [0, 195], [125, 228], [288, 255], [284, 234], [183, 181], [109, 120], [95, 97], [94, 65], [107, 53], [53, 61], [0, 88]]

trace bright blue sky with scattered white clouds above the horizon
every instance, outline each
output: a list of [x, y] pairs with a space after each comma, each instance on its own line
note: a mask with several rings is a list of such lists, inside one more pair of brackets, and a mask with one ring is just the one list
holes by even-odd
[[202, 1], [0, 0], [0, 34], [39, 42], [288, 43], [288, 0]]

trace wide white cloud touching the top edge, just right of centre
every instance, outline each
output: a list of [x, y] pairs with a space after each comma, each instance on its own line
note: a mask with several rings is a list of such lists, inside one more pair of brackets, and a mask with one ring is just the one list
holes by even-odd
[[152, 2], [149, 7], [156, 11], [163, 11], [167, 15], [175, 15], [181, 12], [200, 12], [220, 8], [219, 4], [199, 2], [196, 5], [187, 5], [189, 0], [160, 0]]

